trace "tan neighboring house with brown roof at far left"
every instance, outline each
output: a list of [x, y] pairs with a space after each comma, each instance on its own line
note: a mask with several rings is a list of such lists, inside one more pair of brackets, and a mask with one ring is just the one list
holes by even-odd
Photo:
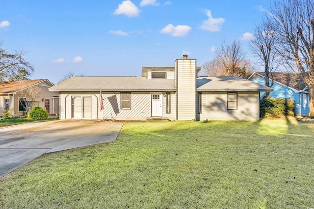
[[13, 116], [26, 115], [19, 93], [35, 85], [40, 87], [35, 106], [46, 109], [50, 114], [59, 114], [59, 93], [48, 91], [53, 86], [48, 79], [37, 79], [0, 82], [0, 115], [4, 110]]

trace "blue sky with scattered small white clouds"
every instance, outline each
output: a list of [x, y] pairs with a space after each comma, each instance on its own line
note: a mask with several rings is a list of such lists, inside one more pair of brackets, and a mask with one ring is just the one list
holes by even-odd
[[247, 49], [270, 0], [5, 0], [2, 47], [27, 52], [31, 79], [56, 84], [85, 76], [141, 76], [142, 66], [172, 66], [188, 54], [210, 61], [221, 39]]

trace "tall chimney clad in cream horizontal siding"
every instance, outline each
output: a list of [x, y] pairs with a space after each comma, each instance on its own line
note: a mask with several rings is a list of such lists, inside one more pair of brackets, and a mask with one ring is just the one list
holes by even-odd
[[177, 59], [177, 119], [196, 119], [196, 60]]

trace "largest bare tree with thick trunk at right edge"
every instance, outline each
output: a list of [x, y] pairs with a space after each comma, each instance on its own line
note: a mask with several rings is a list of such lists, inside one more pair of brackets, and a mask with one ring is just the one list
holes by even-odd
[[314, 117], [314, 1], [275, 0], [266, 18], [276, 26], [278, 51], [308, 85]]

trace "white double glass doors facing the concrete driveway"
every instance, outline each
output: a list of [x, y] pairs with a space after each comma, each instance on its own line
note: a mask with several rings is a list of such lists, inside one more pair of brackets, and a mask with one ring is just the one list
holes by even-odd
[[72, 97], [72, 118], [91, 118], [91, 97]]

